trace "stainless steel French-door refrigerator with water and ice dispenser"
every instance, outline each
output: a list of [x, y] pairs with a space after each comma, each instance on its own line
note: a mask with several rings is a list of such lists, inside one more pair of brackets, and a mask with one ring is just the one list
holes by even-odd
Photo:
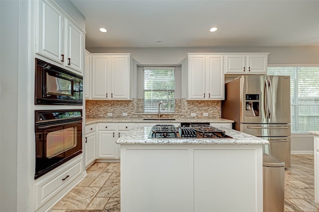
[[291, 167], [289, 76], [240, 76], [225, 84], [221, 105], [234, 129], [269, 140], [270, 154]]

